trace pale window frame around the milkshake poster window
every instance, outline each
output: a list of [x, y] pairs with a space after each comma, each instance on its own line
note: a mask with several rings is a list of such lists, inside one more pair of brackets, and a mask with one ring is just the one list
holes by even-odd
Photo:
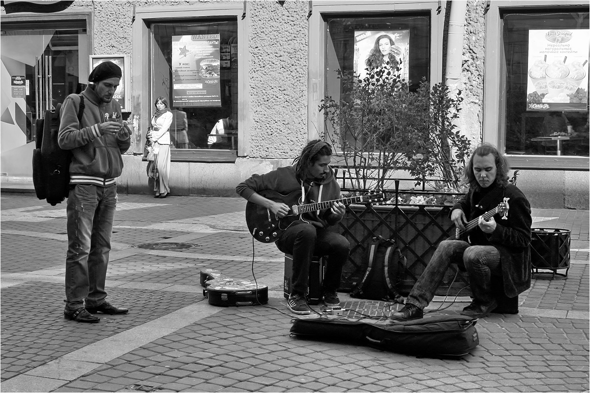
[[[492, 1], [486, 14], [486, 61], [484, 65], [483, 141], [506, 149], [506, 57], [504, 56], [503, 17], [519, 11], [563, 12], [569, 6], [588, 2], [567, 0], [559, 5], [545, 0]], [[496, 60], [497, 59], [497, 60]], [[507, 155], [514, 169], [589, 170], [590, 157]]]

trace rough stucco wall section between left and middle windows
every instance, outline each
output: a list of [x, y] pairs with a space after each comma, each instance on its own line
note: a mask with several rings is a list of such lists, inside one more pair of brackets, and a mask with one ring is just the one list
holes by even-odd
[[[250, 158], [293, 158], [307, 143], [307, 2], [248, 2]], [[242, 94], [242, 92], [240, 92]]]

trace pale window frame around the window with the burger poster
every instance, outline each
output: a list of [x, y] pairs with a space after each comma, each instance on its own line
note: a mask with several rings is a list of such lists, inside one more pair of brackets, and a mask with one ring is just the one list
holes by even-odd
[[[135, 10], [135, 22], [133, 22], [133, 61], [132, 74], [134, 83], [133, 113], [139, 114], [141, 143], [139, 148], [143, 152], [143, 141], [146, 130], [152, 117], [152, 103], [150, 96], [150, 39], [153, 23], [171, 22], [198, 22], [199, 18], [235, 17], [238, 23], [238, 150], [237, 156], [245, 156], [249, 149], [248, 133], [251, 128], [251, 120], [248, 117], [249, 80], [248, 80], [248, 51], [247, 31], [248, 18], [246, 18], [246, 2], [212, 2], [211, 4], [195, 4], [190, 6], [155, 6], [141, 7]], [[171, 149], [171, 160], [182, 162], [204, 163], [233, 163], [237, 158], [235, 150], [207, 150], [207, 149]]]

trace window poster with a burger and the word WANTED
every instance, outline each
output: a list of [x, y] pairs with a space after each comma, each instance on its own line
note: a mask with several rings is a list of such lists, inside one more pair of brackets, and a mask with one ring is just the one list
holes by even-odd
[[219, 41], [219, 34], [172, 36], [172, 106], [221, 107]]

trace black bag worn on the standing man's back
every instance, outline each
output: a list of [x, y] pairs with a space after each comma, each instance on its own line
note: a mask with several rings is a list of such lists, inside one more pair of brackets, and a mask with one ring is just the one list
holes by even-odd
[[[84, 114], [84, 97], [80, 96], [78, 123]], [[70, 193], [71, 151], [63, 150], [57, 143], [60, 130], [61, 103], [54, 110], [45, 111], [45, 117], [37, 119], [36, 140], [33, 150], [33, 185], [38, 199], [46, 199], [55, 206]]]

